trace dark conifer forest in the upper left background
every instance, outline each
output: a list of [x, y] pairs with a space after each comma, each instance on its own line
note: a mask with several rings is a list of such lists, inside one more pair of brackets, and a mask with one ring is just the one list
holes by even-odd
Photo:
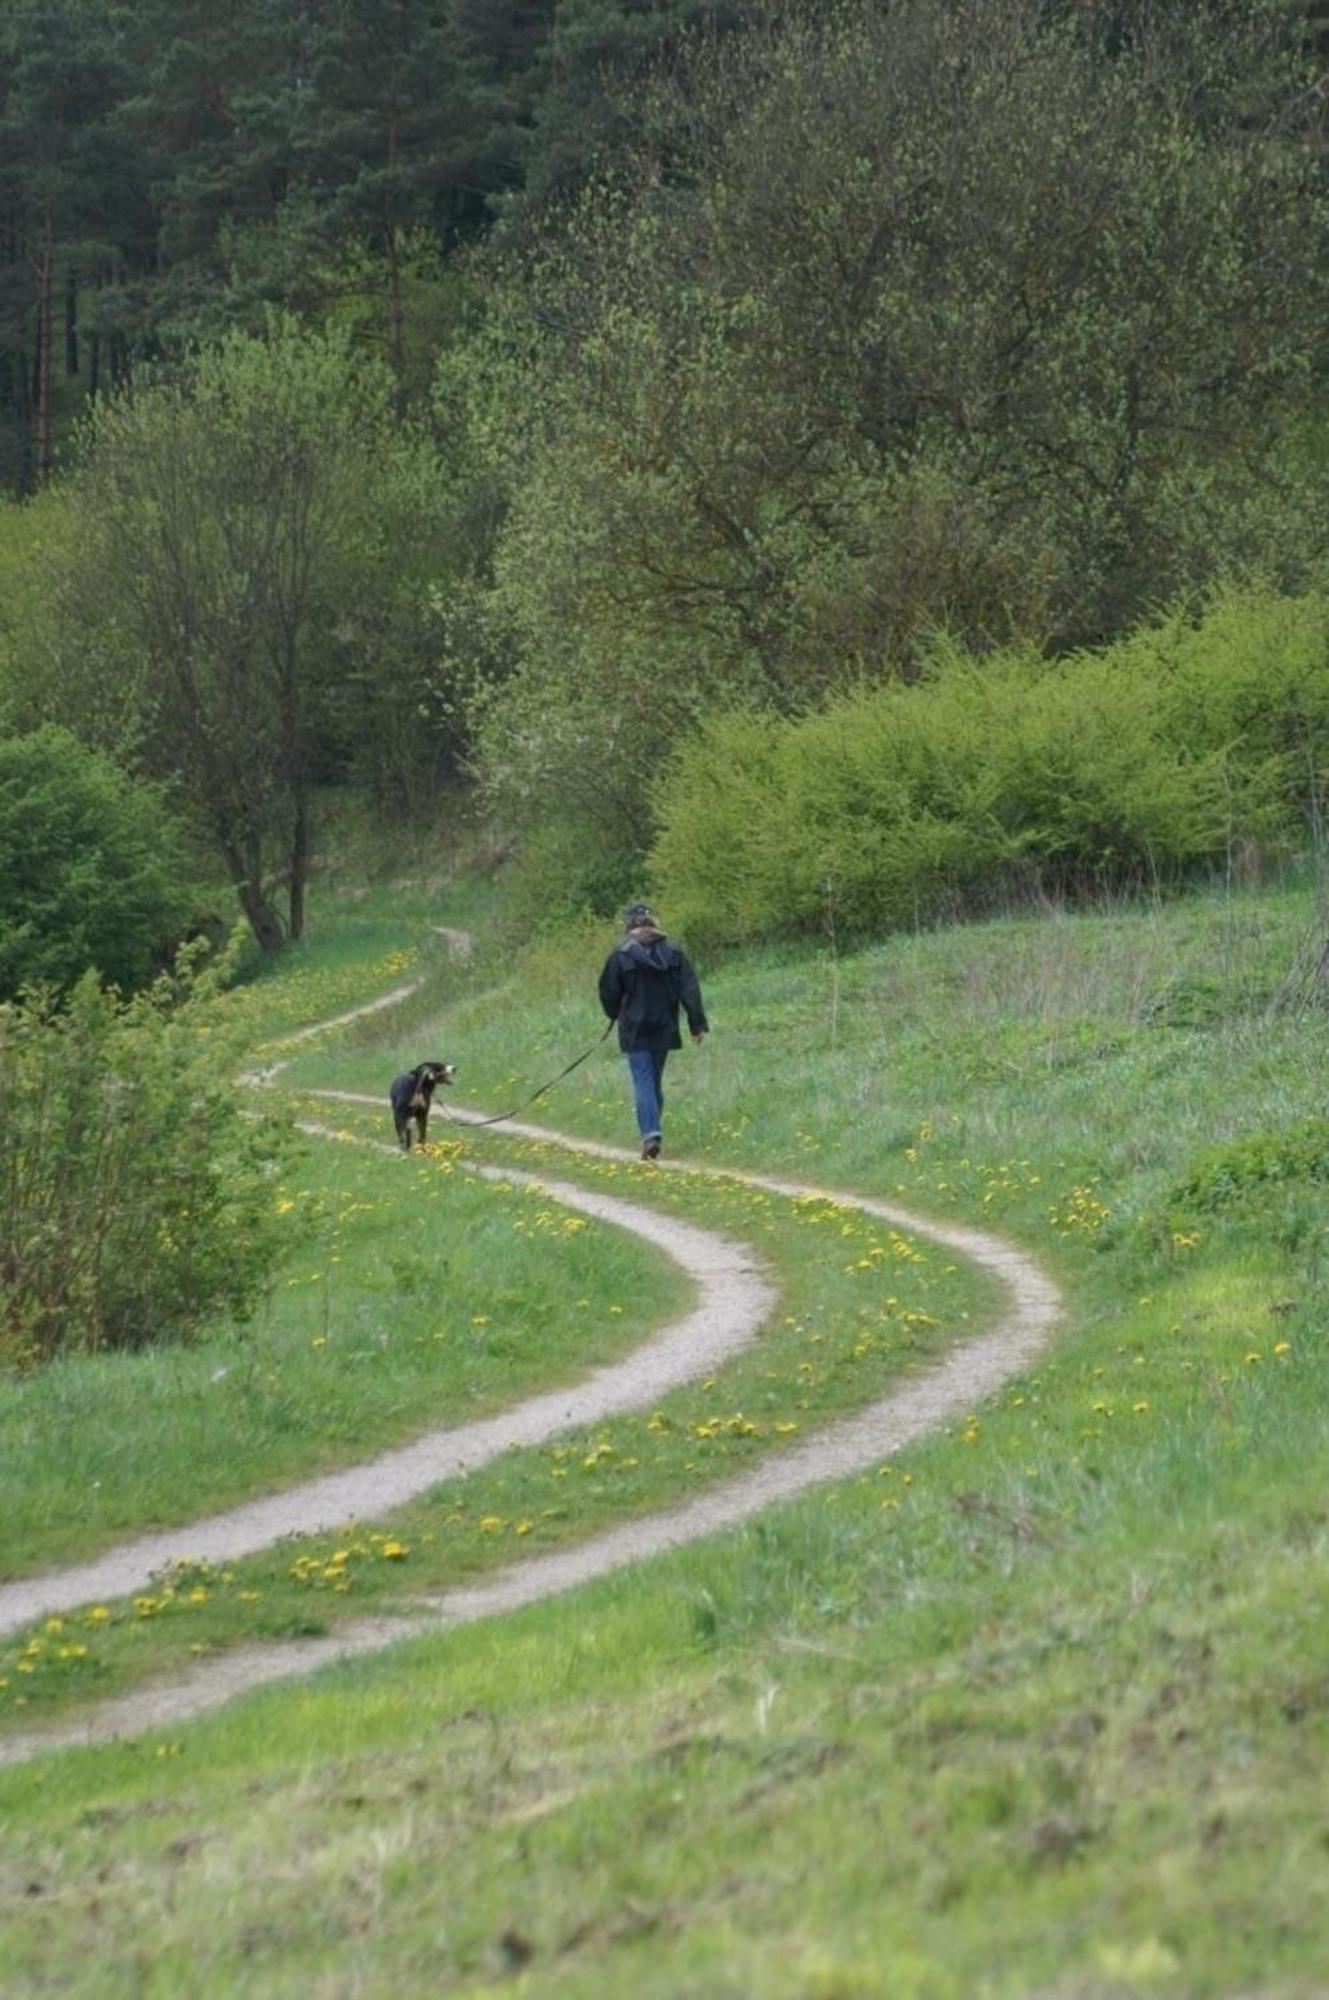
[[438, 262], [574, 184], [606, 72], [713, 0], [6, 0], [0, 486], [46, 478], [84, 394], [264, 304], [354, 316], [400, 374]]

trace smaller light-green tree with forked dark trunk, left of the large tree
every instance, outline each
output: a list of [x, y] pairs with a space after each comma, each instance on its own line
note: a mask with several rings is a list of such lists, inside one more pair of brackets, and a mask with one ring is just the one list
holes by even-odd
[[314, 784], [372, 728], [346, 710], [342, 628], [382, 566], [380, 500], [412, 482], [408, 534], [434, 534], [430, 464], [386, 368], [292, 322], [228, 336], [92, 424], [52, 602], [56, 700], [72, 716], [88, 678], [128, 690], [144, 766], [204, 826], [262, 950], [304, 928]]

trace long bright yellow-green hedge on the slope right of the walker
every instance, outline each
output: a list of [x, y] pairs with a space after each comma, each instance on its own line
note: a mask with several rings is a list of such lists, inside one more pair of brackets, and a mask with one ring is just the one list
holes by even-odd
[[1327, 756], [1329, 606], [1233, 590], [1101, 652], [939, 648], [817, 714], [721, 714], [658, 788], [650, 872], [695, 938], [891, 930], [1295, 848]]

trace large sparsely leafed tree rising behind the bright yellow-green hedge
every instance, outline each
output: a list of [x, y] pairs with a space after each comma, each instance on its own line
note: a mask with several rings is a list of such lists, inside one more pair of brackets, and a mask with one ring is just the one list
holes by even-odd
[[1303, 560], [1315, 92], [1281, 6], [1119, 12], [789, 10], [656, 76], [504, 292], [544, 354], [494, 554], [510, 800], [644, 838], [640, 774], [715, 700], [911, 672], [937, 628], [1087, 642]]

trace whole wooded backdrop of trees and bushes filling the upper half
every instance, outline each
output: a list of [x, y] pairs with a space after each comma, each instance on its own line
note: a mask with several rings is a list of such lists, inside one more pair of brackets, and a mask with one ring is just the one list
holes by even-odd
[[[1325, 40], [1287, 0], [16, 0], [4, 988], [146, 978], [228, 920], [212, 882], [280, 950], [346, 814], [428, 840], [464, 812], [516, 910], [646, 876], [715, 912], [753, 846], [707, 820], [751, 776], [727, 718], [875, 692], [933, 778], [899, 790], [883, 710], [853, 804], [829, 772], [801, 816], [789, 910], [729, 880], [729, 936], [1295, 846]], [[1139, 662], [1207, 620], [1227, 694], [1199, 646], [1197, 716], [1295, 626], [1277, 716], [1147, 748]], [[1027, 740], [995, 838], [975, 800], [1011, 774], [923, 718], [969, 674], [1037, 708], [1057, 662], [1101, 728]], [[1111, 790], [1109, 742], [1171, 818], [1057, 808]], [[779, 848], [781, 792], [743, 798]], [[839, 884], [883, 842], [899, 892], [865, 902]], [[90, 850], [154, 858], [104, 870], [106, 910], [136, 890], [96, 946], [60, 916]]]

